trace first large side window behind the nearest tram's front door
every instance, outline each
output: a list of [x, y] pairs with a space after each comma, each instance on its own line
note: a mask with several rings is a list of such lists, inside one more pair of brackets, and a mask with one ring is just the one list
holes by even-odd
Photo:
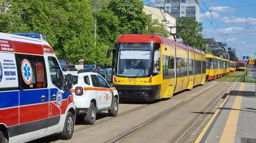
[[174, 57], [163, 55], [163, 79], [174, 78]]

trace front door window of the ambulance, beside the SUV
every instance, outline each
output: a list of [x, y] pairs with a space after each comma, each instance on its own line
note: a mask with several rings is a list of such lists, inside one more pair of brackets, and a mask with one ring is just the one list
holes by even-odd
[[53, 85], [58, 88], [62, 88], [63, 75], [55, 57], [48, 57], [48, 63], [50, 68], [51, 80]]

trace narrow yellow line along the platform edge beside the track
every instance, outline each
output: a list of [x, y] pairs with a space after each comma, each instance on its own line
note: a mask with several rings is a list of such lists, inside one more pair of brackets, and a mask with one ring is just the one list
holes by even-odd
[[[235, 84], [235, 86], [231, 89], [234, 90], [235, 87], [237, 85], [237, 82]], [[230, 90], [230, 91], [231, 91]], [[205, 125], [204, 129], [202, 130], [202, 132], [199, 134], [199, 136], [197, 137], [197, 139], [195, 140], [195, 143], [198, 143], [202, 140], [202, 138], [204, 137], [205, 132], [208, 130], [208, 128], [210, 127], [210, 125], [212, 124], [213, 120], [215, 119], [215, 117], [218, 115], [218, 113], [220, 112], [220, 108], [222, 108], [222, 106], [226, 103], [227, 99], [228, 99], [229, 95], [227, 95], [227, 97], [223, 100], [223, 102], [220, 104], [219, 108], [217, 109], [217, 111], [213, 114], [213, 116], [211, 117], [211, 119], [209, 120], [209, 122]]]

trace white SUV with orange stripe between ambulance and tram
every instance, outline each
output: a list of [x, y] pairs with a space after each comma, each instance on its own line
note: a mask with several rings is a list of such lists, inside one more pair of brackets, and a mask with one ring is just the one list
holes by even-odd
[[[70, 73], [70, 72], [67, 72]], [[64, 72], [65, 75], [67, 73]], [[83, 114], [86, 124], [94, 124], [96, 113], [107, 111], [109, 115], [118, 113], [119, 96], [100, 74], [94, 72], [71, 73], [73, 75], [74, 103], [77, 114]]]

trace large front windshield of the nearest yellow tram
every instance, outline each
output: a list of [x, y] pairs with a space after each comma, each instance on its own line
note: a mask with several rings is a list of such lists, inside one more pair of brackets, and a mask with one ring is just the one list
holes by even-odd
[[153, 43], [119, 43], [117, 76], [149, 77], [153, 47]]

